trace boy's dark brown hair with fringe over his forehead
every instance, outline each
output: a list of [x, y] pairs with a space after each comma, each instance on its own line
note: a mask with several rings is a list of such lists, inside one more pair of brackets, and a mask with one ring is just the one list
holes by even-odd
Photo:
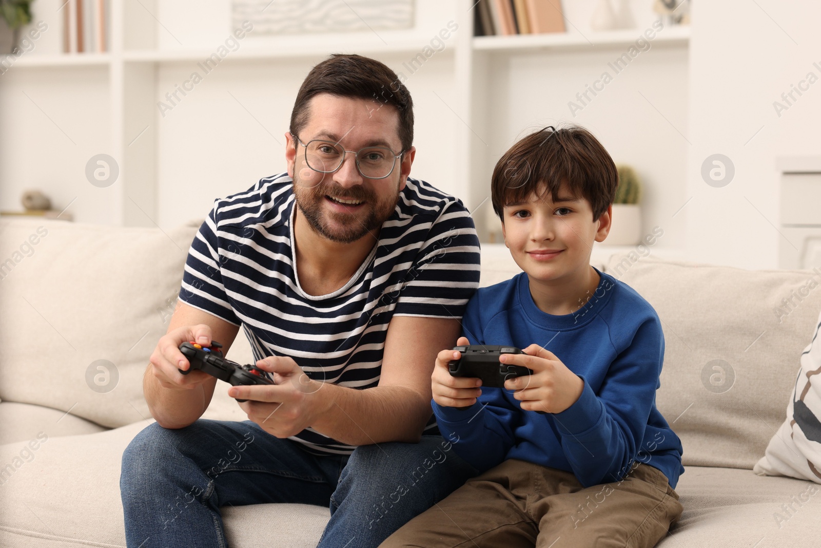
[[610, 154], [583, 127], [545, 127], [513, 145], [496, 163], [491, 179], [493, 210], [504, 222], [503, 208], [550, 192], [556, 201], [562, 183], [574, 199], [585, 198], [593, 220], [616, 196], [618, 172]]

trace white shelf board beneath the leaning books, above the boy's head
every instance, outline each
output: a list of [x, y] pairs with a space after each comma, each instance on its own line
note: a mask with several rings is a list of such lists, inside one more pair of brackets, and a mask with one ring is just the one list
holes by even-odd
[[[635, 29], [607, 30], [576, 33], [553, 33], [543, 35], [475, 36], [473, 47], [489, 52], [518, 52], [534, 49], [599, 48], [629, 46], [641, 36], [643, 31]], [[689, 26], [671, 26], [656, 32], [652, 44], [687, 44], [690, 41]]]

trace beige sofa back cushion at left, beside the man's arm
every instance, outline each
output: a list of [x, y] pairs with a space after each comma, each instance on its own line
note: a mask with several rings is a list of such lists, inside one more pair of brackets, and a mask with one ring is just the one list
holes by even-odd
[[0, 398], [101, 426], [149, 417], [143, 371], [196, 230], [0, 219]]

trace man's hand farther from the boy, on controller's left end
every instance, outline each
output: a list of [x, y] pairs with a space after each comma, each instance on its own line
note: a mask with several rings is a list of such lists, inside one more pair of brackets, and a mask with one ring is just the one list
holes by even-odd
[[157, 343], [157, 348], [151, 354], [150, 371], [157, 378], [159, 385], [172, 390], [191, 390], [213, 379], [208, 373], [191, 371], [182, 375], [190, 367], [188, 358], [180, 352], [180, 345], [188, 341], [208, 345], [211, 343], [211, 328], [209, 325], [186, 325], [169, 331]]

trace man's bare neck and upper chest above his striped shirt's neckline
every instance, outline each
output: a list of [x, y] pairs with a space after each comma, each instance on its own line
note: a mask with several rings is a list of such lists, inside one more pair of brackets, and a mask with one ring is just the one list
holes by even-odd
[[294, 268], [299, 274], [300, 287], [313, 296], [333, 293], [360, 269], [378, 242], [378, 229], [356, 242], [332, 242], [310, 227], [296, 205], [295, 209]]

